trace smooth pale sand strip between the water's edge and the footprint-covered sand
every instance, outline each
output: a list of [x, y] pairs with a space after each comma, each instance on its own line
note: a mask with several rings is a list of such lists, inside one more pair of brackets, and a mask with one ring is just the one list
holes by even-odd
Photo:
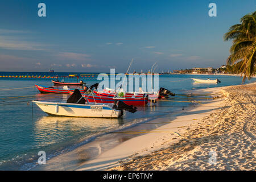
[[[221, 88], [210, 88], [204, 89], [205, 92], [220, 93]], [[195, 91], [202, 93], [203, 90]], [[220, 95], [221, 96], [221, 95]], [[154, 122], [169, 122], [166, 125], [158, 127], [152, 131], [134, 131], [134, 129], [126, 130], [133, 132], [145, 132], [146, 134], [139, 137], [131, 138], [122, 142], [118, 146], [103, 152], [101, 155], [97, 156], [96, 159], [89, 160], [82, 164], [78, 170], [105, 170], [109, 168], [116, 167], [114, 169], [123, 170], [123, 169], [153, 169], [159, 170], [164, 169], [168, 164], [159, 162], [154, 167], [146, 167], [147, 164], [144, 163], [144, 167], [140, 167], [139, 160], [141, 158], [147, 157], [151, 152], [162, 151], [163, 148], [170, 147], [171, 144], [178, 142], [183, 137], [187, 130], [190, 130], [192, 127], [195, 127], [200, 123], [200, 119], [209, 115], [209, 113], [214, 113], [215, 109], [221, 108], [224, 105], [224, 98], [218, 98], [212, 100], [209, 104], [200, 104], [198, 107], [195, 107], [192, 110], [185, 110], [188, 114], [182, 114], [170, 122], [170, 118], [160, 118], [150, 121]], [[193, 113], [196, 112], [196, 113]], [[197, 114], [200, 113], [200, 114]], [[176, 132], [176, 133], [175, 133]], [[162, 154], [164, 156], [164, 154]], [[135, 160], [138, 160], [135, 163]], [[155, 159], [154, 159], [155, 160]], [[133, 167], [128, 167], [131, 164]], [[126, 166], [128, 168], [126, 168]], [[142, 163], [143, 166], [143, 163]]]

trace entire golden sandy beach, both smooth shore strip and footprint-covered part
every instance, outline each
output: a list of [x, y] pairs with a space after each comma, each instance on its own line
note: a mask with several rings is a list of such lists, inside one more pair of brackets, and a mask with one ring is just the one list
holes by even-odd
[[78, 170], [255, 170], [256, 83], [195, 90], [215, 99], [82, 163]]

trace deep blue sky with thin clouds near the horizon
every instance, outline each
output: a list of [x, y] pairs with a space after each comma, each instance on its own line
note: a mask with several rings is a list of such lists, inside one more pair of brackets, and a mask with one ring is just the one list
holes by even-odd
[[[45, 3], [46, 17], [38, 16]], [[217, 16], [210, 17], [209, 3]], [[155, 72], [225, 64], [223, 35], [256, 0], [0, 2], [0, 71]]]

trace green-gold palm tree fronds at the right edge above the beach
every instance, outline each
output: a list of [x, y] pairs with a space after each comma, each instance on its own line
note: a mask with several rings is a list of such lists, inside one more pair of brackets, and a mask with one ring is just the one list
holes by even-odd
[[255, 75], [256, 71], [256, 11], [241, 18], [241, 24], [235, 24], [224, 35], [224, 40], [233, 40], [228, 65], [239, 63], [238, 72], [243, 75], [243, 81]]

